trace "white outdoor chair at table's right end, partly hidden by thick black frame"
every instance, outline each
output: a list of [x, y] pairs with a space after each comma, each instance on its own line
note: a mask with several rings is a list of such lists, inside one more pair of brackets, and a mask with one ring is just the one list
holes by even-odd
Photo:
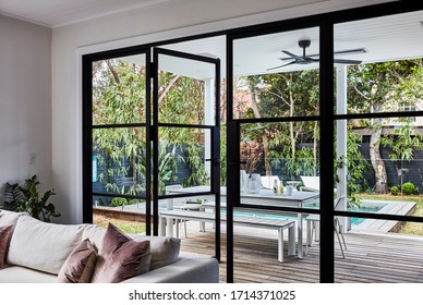
[[[345, 198], [345, 196], [338, 198], [335, 202], [335, 209], [337, 209], [339, 203], [343, 198]], [[315, 232], [315, 241], [317, 240], [317, 235], [318, 235], [317, 225], [319, 224], [321, 216], [319, 215], [315, 215], [315, 213], [309, 215], [305, 218], [305, 221], [306, 221], [306, 230], [307, 230], [307, 241], [306, 241], [306, 246], [305, 246], [305, 254], [307, 254], [307, 248], [313, 243], [314, 232]], [[335, 234], [337, 236], [337, 240], [338, 240], [338, 243], [339, 243], [339, 247], [340, 247], [341, 253], [342, 253], [342, 257], [346, 258], [346, 254], [343, 253], [343, 249], [347, 249], [347, 243], [346, 243], [346, 239], [343, 237], [342, 225], [341, 225], [338, 217], [334, 218], [334, 231], [335, 231]], [[342, 242], [341, 242], [341, 239], [342, 239]], [[342, 244], [343, 244], [343, 246], [342, 246]]]

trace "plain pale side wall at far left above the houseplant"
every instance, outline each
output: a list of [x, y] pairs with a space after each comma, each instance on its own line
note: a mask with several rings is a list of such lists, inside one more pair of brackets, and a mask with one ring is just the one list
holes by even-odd
[[51, 29], [0, 15], [0, 185], [33, 174], [53, 187]]

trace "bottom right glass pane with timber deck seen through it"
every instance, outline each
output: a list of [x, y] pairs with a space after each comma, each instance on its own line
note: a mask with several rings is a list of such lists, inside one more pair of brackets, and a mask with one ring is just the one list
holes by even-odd
[[[370, 221], [374, 220], [363, 219], [363, 222]], [[392, 222], [397, 225], [386, 232], [364, 231], [370, 234], [363, 234], [353, 225], [343, 227], [347, 229], [339, 241], [335, 235], [335, 282], [423, 282], [423, 223]]]

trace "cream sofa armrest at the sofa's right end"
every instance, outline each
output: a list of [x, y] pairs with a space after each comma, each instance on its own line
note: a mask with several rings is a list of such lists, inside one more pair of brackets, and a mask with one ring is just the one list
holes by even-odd
[[218, 283], [216, 258], [182, 257], [177, 263], [131, 278], [123, 283]]

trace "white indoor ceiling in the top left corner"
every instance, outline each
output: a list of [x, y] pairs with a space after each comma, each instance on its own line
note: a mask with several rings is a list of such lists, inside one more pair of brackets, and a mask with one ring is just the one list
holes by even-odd
[[58, 27], [174, 0], [0, 0], [0, 13]]

